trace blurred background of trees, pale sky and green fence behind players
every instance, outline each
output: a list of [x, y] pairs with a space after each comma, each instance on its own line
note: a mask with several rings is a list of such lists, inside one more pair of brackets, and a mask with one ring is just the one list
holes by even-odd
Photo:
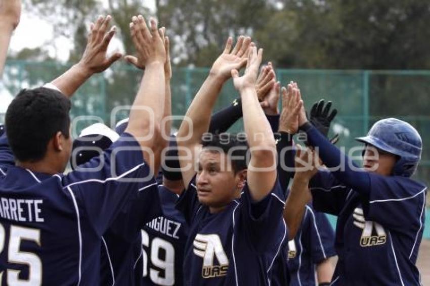
[[[358, 146], [354, 137], [381, 118], [415, 126], [424, 144], [415, 176], [430, 184], [428, 0], [23, 0], [0, 83], [0, 115], [21, 88], [49, 82], [80, 59], [90, 22], [100, 14], [112, 15], [118, 28], [110, 53], [134, 53], [128, 29], [134, 15], [155, 16], [167, 28], [174, 115], [185, 114], [227, 37], [250, 35], [282, 84], [299, 83], [307, 108], [320, 98], [334, 102], [339, 113], [331, 132], [340, 133], [339, 146]], [[111, 110], [132, 103], [141, 76], [119, 62], [91, 78], [73, 99], [76, 132], [97, 120], [80, 116], [110, 125]], [[228, 82], [217, 109], [237, 97]], [[123, 117], [119, 112], [113, 121]], [[430, 226], [424, 231], [430, 238]], [[429, 257], [423, 268], [430, 269]]]

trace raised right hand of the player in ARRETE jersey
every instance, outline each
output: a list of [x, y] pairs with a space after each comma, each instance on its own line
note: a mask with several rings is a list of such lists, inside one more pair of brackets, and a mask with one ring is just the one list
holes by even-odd
[[134, 16], [132, 21], [130, 23], [130, 32], [137, 54], [136, 57], [126, 56], [125, 60], [140, 69], [153, 62], [165, 63], [164, 27], [157, 30], [157, 23], [154, 18], [151, 18], [150, 31], [142, 15]]

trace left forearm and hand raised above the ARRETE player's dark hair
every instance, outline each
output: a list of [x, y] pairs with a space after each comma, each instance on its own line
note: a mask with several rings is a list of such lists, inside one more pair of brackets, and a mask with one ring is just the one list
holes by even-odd
[[106, 18], [100, 16], [95, 24], [91, 24], [87, 47], [79, 63], [51, 82], [65, 96], [70, 98], [93, 74], [103, 72], [121, 58], [119, 53], [106, 58], [107, 47], [115, 34], [115, 26], [107, 32], [110, 20], [109, 15]]

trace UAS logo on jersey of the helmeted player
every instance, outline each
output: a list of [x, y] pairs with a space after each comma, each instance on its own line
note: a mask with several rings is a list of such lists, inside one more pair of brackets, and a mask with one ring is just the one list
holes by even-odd
[[365, 220], [363, 216], [363, 209], [356, 208], [354, 210], [353, 217], [354, 225], [363, 229], [360, 238], [360, 246], [368, 247], [383, 245], [386, 243], [386, 234], [384, 228], [377, 222]]

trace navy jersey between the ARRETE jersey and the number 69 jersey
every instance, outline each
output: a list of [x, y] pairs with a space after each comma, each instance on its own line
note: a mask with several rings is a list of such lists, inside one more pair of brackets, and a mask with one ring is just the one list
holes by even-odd
[[132, 196], [103, 234], [101, 285], [135, 284], [135, 261], [141, 253], [141, 228], [162, 214], [157, 183]]

